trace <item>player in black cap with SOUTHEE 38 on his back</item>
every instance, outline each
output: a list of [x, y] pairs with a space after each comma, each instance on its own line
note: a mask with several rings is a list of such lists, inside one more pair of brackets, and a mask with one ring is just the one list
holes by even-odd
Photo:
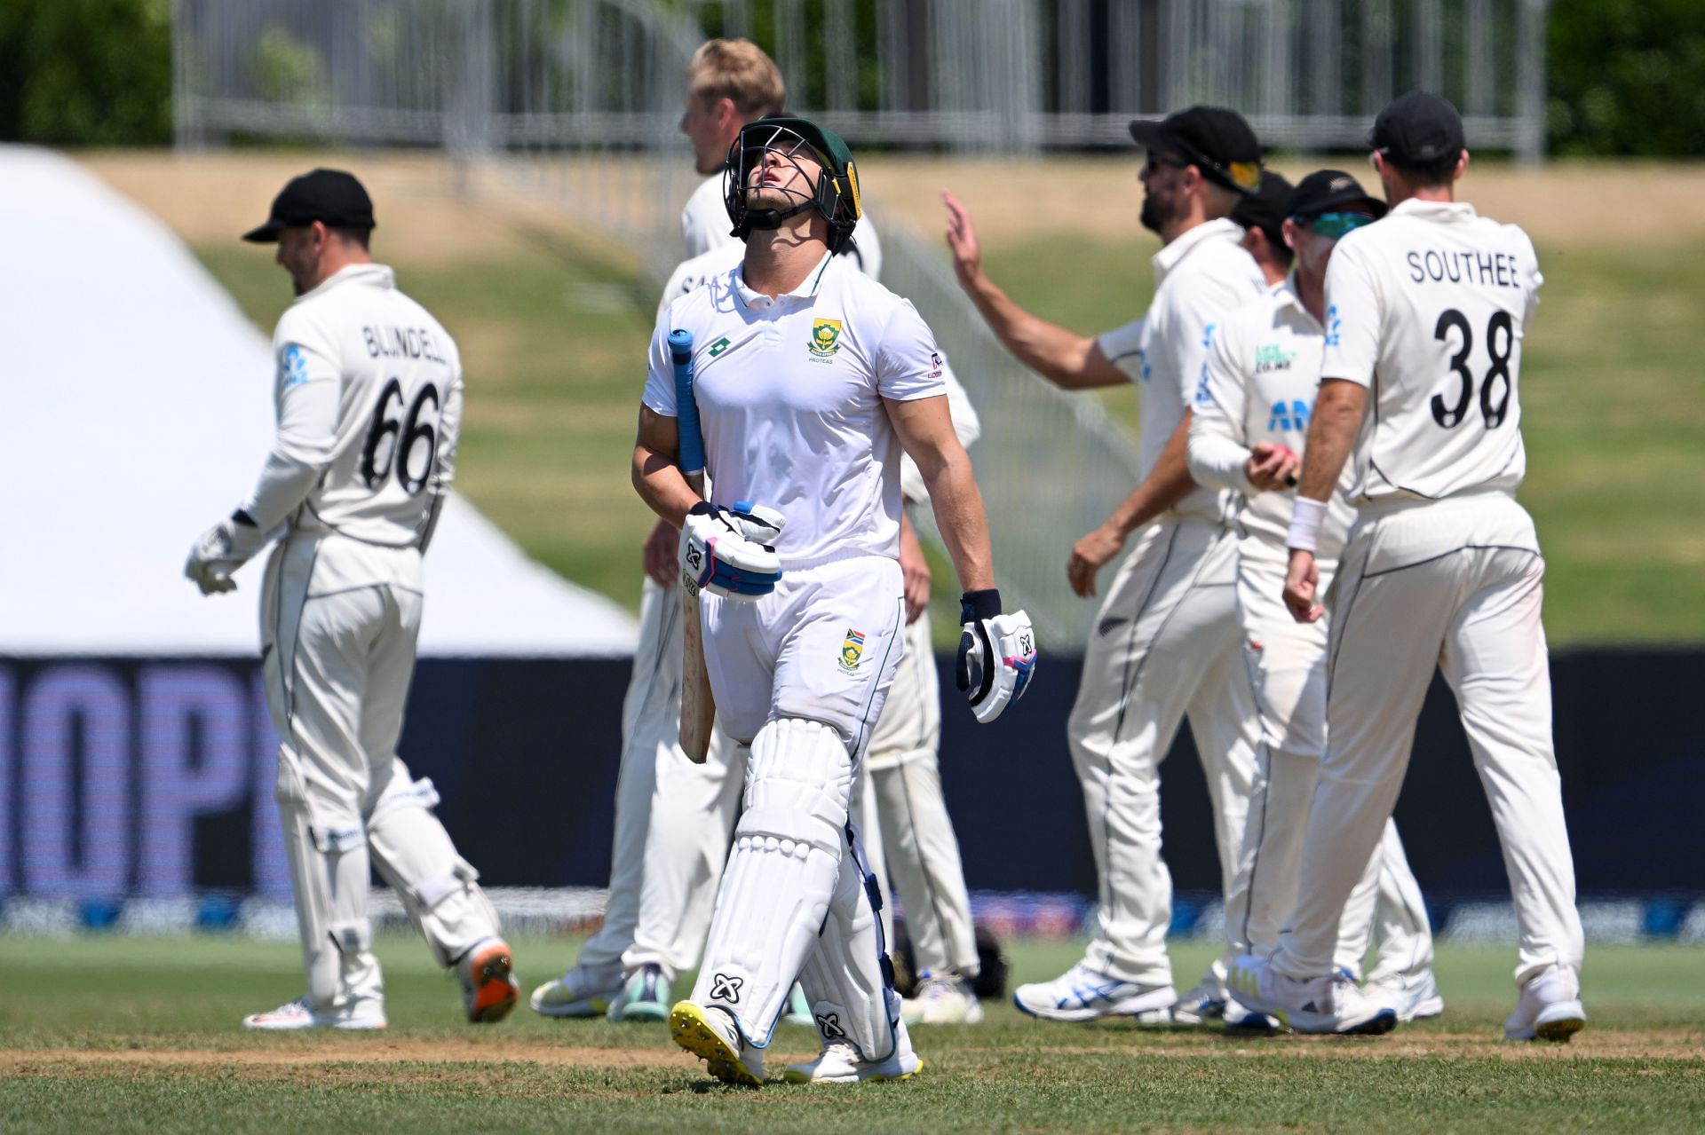
[[1321, 619], [1316, 552], [1354, 452], [1355, 523], [1332, 593], [1326, 755], [1303, 840], [1296, 910], [1272, 958], [1240, 958], [1233, 995], [1298, 1031], [1391, 1028], [1333, 973], [1338, 915], [1408, 767], [1434, 666], [1456, 694], [1504, 845], [1521, 949], [1509, 1040], [1567, 1040], [1581, 1005], [1581, 919], [1552, 750], [1540, 624], [1545, 559], [1516, 503], [1521, 341], [1541, 283], [1533, 242], [1456, 201], [1463, 121], [1410, 92], [1369, 145], [1391, 213], [1338, 240], [1325, 361], [1286, 544], [1284, 603]]

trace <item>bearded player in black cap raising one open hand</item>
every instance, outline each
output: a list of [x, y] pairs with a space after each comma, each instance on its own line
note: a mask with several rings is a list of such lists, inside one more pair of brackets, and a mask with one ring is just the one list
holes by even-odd
[[1134, 121], [1130, 133], [1147, 152], [1142, 225], [1165, 242], [1144, 317], [1088, 339], [1025, 312], [984, 274], [970, 218], [951, 198], [948, 245], [960, 286], [1020, 361], [1069, 390], [1134, 382], [1142, 411], [1142, 481], [1067, 562], [1072, 590], [1091, 596], [1098, 571], [1137, 535], [1101, 602], [1067, 726], [1100, 886], [1095, 937], [1081, 963], [1021, 985], [1014, 1002], [1052, 1021], [1199, 1024], [1224, 1011], [1222, 963], [1178, 997], [1166, 954], [1159, 765], [1188, 714], [1229, 895], [1258, 724], [1241, 658], [1231, 494], [1190, 479], [1185, 440], [1214, 327], [1267, 290], [1228, 216], [1260, 184], [1260, 143], [1219, 107]]

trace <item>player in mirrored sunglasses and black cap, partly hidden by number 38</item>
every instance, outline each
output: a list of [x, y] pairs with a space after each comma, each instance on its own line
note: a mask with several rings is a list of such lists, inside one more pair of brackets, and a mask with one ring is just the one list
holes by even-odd
[[[1245, 660], [1255, 675], [1262, 746], [1243, 856], [1226, 903], [1240, 953], [1265, 954], [1279, 946], [1282, 919], [1296, 900], [1298, 854], [1326, 741], [1326, 624], [1296, 622], [1279, 598], [1291, 482], [1320, 385], [1326, 262], [1340, 235], [1384, 213], [1383, 201], [1338, 170], [1309, 174], [1286, 194], [1279, 244], [1272, 247], [1294, 249], [1296, 269], [1214, 334], [1190, 418], [1190, 475], [1243, 501], [1234, 521], [1238, 610]], [[1316, 562], [1323, 586], [1337, 568], [1352, 511], [1333, 501], [1321, 525]], [[1376, 903], [1381, 934], [1369, 988], [1390, 1002], [1398, 1019], [1441, 1014], [1427, 908], [1391, 821], [1345, 905], [1335, 968], [1361, 975]], [[1236, 1012], [1228, 1012], [1226, 1021], [1245, 1023]]]

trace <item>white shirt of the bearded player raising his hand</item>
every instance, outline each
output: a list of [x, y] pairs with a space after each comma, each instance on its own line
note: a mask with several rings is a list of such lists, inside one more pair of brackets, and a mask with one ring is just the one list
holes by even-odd
[[[1241, 239], [1243, 228], [1221, 218], [1168, 244], [1154, 254], [1154, 302], [1147, 314], [1096, 339], [1101, 353], [1137, 383], [1144, 479], [1195, 397], [1214, 329], [1267, 290], [1255, 257], [1238, 247]], [[1170, 515], [1224, 523], [1231, 501], [1219, 489], [1199, 486]]]

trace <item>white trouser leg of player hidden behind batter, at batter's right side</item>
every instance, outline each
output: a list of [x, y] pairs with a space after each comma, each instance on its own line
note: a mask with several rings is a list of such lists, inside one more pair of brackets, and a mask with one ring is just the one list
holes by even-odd
[[[905, 656], [871, 735], [864, 767], [876, 823], [861, 833], [871, 869], [893, 879], [905, 908], [917, 973], [977, 977], [977, 934], [958, 837], [941, 794], [941, 680], [929, 642], [929, 612], [905, 629]], [[883, 912], [887, 913], [887, 910]]]

